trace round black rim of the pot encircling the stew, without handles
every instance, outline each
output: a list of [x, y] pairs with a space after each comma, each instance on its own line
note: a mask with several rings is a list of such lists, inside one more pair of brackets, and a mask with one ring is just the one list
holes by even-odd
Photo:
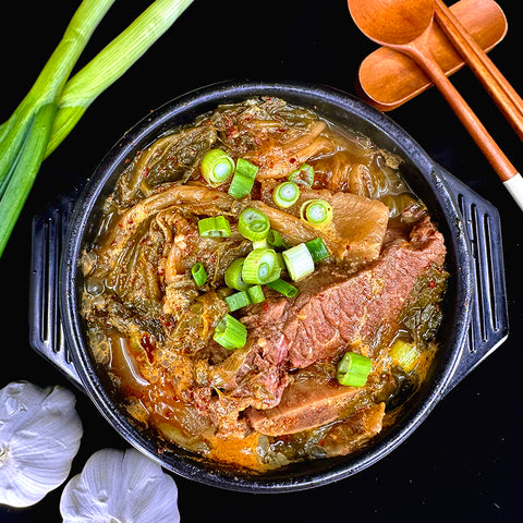
[[[302, 471], [296, 475], [289, 474], [285, 479], [273, 479], [271, 475], [244, 475], [238, 471], [227, 470], [227, 467], [226, 470], [222, 467], [217, 469], [211, 464], [206, 464], [203, 460], [187, 458], [188, 453], [184, 458], [183, 452], [182, 457], [173, 458], [159, 454], [157, 447], [122, 414], [110, 394], [100, 386], [95, 364], [86, 350], [82, 331], [82, 319], [76, 306], [80, 302], [77, 292], [78, 281], [82, 278], [77, 266], [77, 260], [81, 256], [82, 239], [88, 223], [88, 217], [93, 214], [95, 204], [117, 166], [124, 165], [125, 159], [135, 153], [137, 144], [141, 144], [153, 131], [156, 133], [157, 130], [174, 129], [180, 125], [175, 120], [180, 120], [181, 115], [192, 114], [184, 122], [188, 123], [194, 120], [194, 117], [206, 112], [206, 110], [202, 110], [204, 106], [216, 107], [226, 100], [239, 101], [259, 95], [281, 97], [295, 105], [300, 105], [300, 102], [292, 101], [292, 99], [306, 98], [309, 102], [315, 101], [318, 107], [327, 104], [338, 108], [341, 113], [349, 111], [391, 138], [398, 146], [398, 149], [406, 151], [409, 158], [412, 159], [434, 193], [441, 215], [449, 228], [450, 240], [452, 240], [454, 247], [455, 264], [460, 267], [458, 273], [454, 275], [455, 295], [462, 297], [460, 306], [454, 308], [455, 326], [450, 331], [449, 344], [451, 348], [448, 350], [448, 357], [441, 364], [441, 370], [433, 380], [425, 393], [425, 398], [419, 402], [419, 406], [408, 416], [401, 427], [394, 424], [387, 431], [385, 438], [378, 440], [376, 445], [357, 455], [329, 459], [330, 464], [324, 466], [319, 472], [314, 469], [309, 473]], [[321, 110], [318, 109], [318, 112], [321, 113]], [[174, 122], [170, 123], [173, 120]], [[156, 135], [160, 133], [156, 133]], [[448, 241], [449, 239], [447, 238]], [[226, 82], [192, 90], [165, 104], [138, 121], [101, 160], [95, 173], [90, 177], [71, 216], [60, 264], [59, 300], [65, 340], [70, 346], [73, 364], [82, 384], [98, 410], [130, 445], [145, 452], [171, 472], [203, 484], [251, 492], [292, 491], [332, 483], [370, 466], [403, 442], [425, 419], [441, 397], [445, 396], [446, 388], [459, 365], [461, 348], [470, 321], [472, 302], [470, 256], [461, 215], [445, 179], [440, 175], [437, 165], [389, 117], [350, 94], [324, 85], [307, 82]], [[308, 462], [308, 464], [311, 463], [313, 462]]]

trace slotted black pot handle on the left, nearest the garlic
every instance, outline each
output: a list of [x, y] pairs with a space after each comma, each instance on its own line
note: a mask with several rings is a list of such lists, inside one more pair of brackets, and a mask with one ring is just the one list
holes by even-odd
[[59, 307], [61, 247], [78, 193], [61, 195], [33, 218], [29, 279], [29, 343], [84, 390], [65, 344]]

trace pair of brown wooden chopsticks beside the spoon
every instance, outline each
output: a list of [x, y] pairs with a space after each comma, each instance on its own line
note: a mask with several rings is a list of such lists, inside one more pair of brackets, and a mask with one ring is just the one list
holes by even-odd
[[523, 141], [523, 100], [452, 11], [435, 0], [436, 21]]

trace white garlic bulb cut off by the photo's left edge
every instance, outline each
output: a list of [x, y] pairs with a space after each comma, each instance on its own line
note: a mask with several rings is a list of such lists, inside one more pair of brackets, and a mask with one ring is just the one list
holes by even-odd
[[0, 390], [0, 503], [28, 507], [66, 479], [83, 434], [74, 404], [62, 387]]

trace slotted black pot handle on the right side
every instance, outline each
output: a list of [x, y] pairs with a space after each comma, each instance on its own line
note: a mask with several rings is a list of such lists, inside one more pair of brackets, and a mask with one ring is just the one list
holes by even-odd
[[504, 342], [509, 320], [499, 212], [445, 169], [441, 174], [463, 218], [475, 285], [469, 331], [446, 394]]

